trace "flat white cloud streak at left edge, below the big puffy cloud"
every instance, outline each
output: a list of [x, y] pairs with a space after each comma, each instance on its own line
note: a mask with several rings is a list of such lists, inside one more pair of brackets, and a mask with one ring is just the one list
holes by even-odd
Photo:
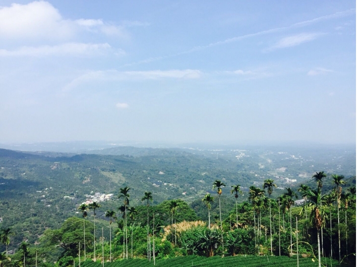
[[[0, 56], [93, 56], [103, 55], [109, 50], [111, 50], [111, 46], [108, 43], [65, 43], [57, 46], [21, 47], [15, 50], [0, 49]], [[118, 50], [116, 53], [118, 55], [124, 54], [121, 50]]]

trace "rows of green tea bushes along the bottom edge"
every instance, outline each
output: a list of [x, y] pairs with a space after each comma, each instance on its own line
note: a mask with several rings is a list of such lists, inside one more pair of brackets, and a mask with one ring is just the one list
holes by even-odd
[[[330, 266], [330, 259], [323, 258], [321, 263], [327, 262]], [[113, 263], [105, 263], [105, 267], [151, 267], [154, 266], [154, 262], [148, 262], [141, 259], [128, 259], [119, 260]], [[281, 257], [256, 257], [256, 256], [236, 256], [225, 257], [215, 256], [211, 258], [199, 257], [199, 256], [186, 256], [176, 257], [171, 259], [161, 259], [156, 261], [157, 267], [296, 267], [297, 259], [289, 258], [286, 256]], [[299, 259], [299, 267], [317, 267], [316, 260], [312, 261], [311, 258]], [[337, 261], [332, 261], [332, 267], [338, 267]], [[78, 267], [78, 263], [76, 265]], [[102, 267], [100, 262], [86, 261], [81, 263], [81, 267]]]

